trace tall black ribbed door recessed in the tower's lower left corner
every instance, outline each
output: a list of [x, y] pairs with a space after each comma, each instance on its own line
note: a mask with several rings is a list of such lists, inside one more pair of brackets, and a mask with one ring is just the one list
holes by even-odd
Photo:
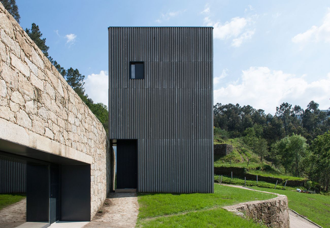
[[137, 140], [117, 140], [117, 188], [137, 188]]

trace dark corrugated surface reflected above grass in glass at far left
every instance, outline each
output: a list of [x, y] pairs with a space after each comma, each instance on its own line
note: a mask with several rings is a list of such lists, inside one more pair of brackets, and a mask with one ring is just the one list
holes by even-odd
[[0, 156], [0, 193], [26, 192], [26, 162]]

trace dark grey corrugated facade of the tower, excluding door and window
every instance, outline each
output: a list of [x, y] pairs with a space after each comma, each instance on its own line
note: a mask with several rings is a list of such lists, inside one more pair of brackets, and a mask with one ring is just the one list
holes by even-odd
[[109, 137], [138, 139], [138, 191], [213, 192], [212, 27], [109, 27]]

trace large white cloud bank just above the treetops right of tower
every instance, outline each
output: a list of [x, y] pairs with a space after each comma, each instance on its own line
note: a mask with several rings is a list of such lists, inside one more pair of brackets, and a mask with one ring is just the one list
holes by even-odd
[[282, 102], [306, 105], [314, 100], [320, 109], [327, 109], [330, 94], [330, 73], [320, 80], [307, 82], [306, 75], [296, 76], [267, 67], [250, 67], [242, 71], [238, 82], [214, 90], [214, 103], [239, 103], [264, 109], [275, 114], [276, 106]]

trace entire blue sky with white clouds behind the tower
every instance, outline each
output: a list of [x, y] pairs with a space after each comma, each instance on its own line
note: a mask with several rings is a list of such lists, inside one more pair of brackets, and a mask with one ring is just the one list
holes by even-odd
[[39, 25], [49, 55], [79, 69], [96, 102], [108, 104], [108, 26], [213, 26], [214, 103], [330, 106], [329, 1], [16, 3], [20, 25]]

